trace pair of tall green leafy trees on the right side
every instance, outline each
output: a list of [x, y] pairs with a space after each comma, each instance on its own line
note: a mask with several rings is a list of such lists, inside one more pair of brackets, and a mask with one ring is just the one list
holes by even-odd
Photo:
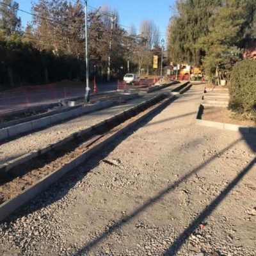
[[244, 38], [256, 37], [255, 0], [177, 0], [170, 19], [173, 61], [201, 67], [214, 83], [241, 60]]

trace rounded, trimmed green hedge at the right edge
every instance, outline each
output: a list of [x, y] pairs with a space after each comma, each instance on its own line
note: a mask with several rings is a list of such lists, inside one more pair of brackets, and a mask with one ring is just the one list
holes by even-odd
[[256, 111], [256, 61], [243, 60], [234, 65], [229, 94], [228, 108], [237, 113]]

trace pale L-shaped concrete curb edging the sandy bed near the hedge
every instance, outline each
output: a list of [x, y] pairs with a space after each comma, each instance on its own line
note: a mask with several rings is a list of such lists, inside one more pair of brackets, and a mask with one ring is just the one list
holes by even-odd
[[217, 129], [225, 129], [225, 130], [230, 130], [230, 131], [239, 131], [239, 132], [243, 132], [243, 133], [256, 135], [256, 128], [254, 128], [254, 127], [202, 120], [201, 116], [202, 116], [203, 111], [204, 111], [204, 106], [202, 104], [200, 104], [198, 111], [196, 113], [196, 124], [198, 124], [198, 125], [214, 127]]

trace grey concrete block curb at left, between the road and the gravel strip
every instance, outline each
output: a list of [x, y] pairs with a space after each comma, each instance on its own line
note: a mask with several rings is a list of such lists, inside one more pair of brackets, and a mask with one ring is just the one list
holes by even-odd
[[75, 118], [77, 116], [84, 115], [86, 113], [91, 113], [93, 111], [97, 111], [100, 109], [109, 108], [114, 104], [115, 104], [115, 101], [113, 100], [105, 100], [97, 104], [93, 104], [91, 106], [84, 106], [81, 108], [71, 109], [70, 111], [66, 111], [64, 113], [58, 113], [55, 115], [33, 120], [31, 122], [24, 122], [22, 124], [6, 127], [0, 130], [0, 139], [1, 140], [11, 139], [15, 136], [19, 136], [20, 134], [25, 134], [31, 131], [35, 131], [35, 129], [42, 129], [49, 125], [58, 124], [70, 118]]

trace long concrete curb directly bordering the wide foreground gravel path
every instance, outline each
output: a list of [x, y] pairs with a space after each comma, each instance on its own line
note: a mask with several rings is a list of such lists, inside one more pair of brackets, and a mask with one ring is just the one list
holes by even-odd
[[[156, 97], [154, 97], [156, 98]], [[145, 115], [141, 116], [137, 120], [134, 120], [131, 124], [127, 125], [126, 127], [120, 129], [119, 131], [115, 132], [114, 134], [111, 134], [109, 138], [106, 140], [102, 141], [98, 145], [96, 145], [93, 148], [90, 148], [87, 152], [84, 152], [81, 156], [78, 156], [76, 159], [73, 159], [70, 161], [70, 163], [65, 164], [62, 168], [56, 170], [53, 173], [50, 173], [43, 179], [41, 179], [39, 182], [37, 182], [33, 187], [26, 189], [24, 192], [22, 192], [20, 195], [15, 196], [15, 198], [12, 198], [10, 200], [7, 200], [3, 204], [0, 205], [0, 221], [3, 221], [4, 218], [6, 218], [8, 215], [12, 214], [13, 211], [18, 209], [20, 206], [34, 198], [36, 195], [40, 194], [42, 191], [47, 189], [52, 183], [56, 182], [58, 179], [60, 179], [65, 173], [70, 172], [72, 169], [76, 168], [79, 166], [81, 163], [83, 163], [88, 157], [92, 156], [95, 154], [95, 152], [99, 151], [101, 148], [103, 148], [105, 145], [110, 143], [111, 141], [115, 140], [120, 136], [120, 134], [124, 134], [127, 132], [129, 129], [134, 127], [134, 125], [139, 124], [142, 120], [145, 118], [148, 118], [148, 116], [157, 113], [159, 109], [166, 108], [168, 104], [170, 104], [173, 100], [175, 99], [175, 96], [171, 96], [168, 99], [164, 100], [161, 104], [159, 104], [156, 108], [151, 109], [148, 113]], [[155, 99], [156, 100], [156, 99]], [[154, 99], [147, 100], [147, 102], [142, 102], [139, 104], [136, 108], [139, 108], [139, 106], [147, 104], [149, 101], [154, 101]], [[130, 111], [134, 111], [134, 107], [130, 108]], [[122, 113], [118, 114], [117, 116], [120, 115], [125, 115], [126, 111], [123, 111]], [[108, 118], [107, 120], [104, 120], [105, 122], [110, 122], [111, 118]]]

